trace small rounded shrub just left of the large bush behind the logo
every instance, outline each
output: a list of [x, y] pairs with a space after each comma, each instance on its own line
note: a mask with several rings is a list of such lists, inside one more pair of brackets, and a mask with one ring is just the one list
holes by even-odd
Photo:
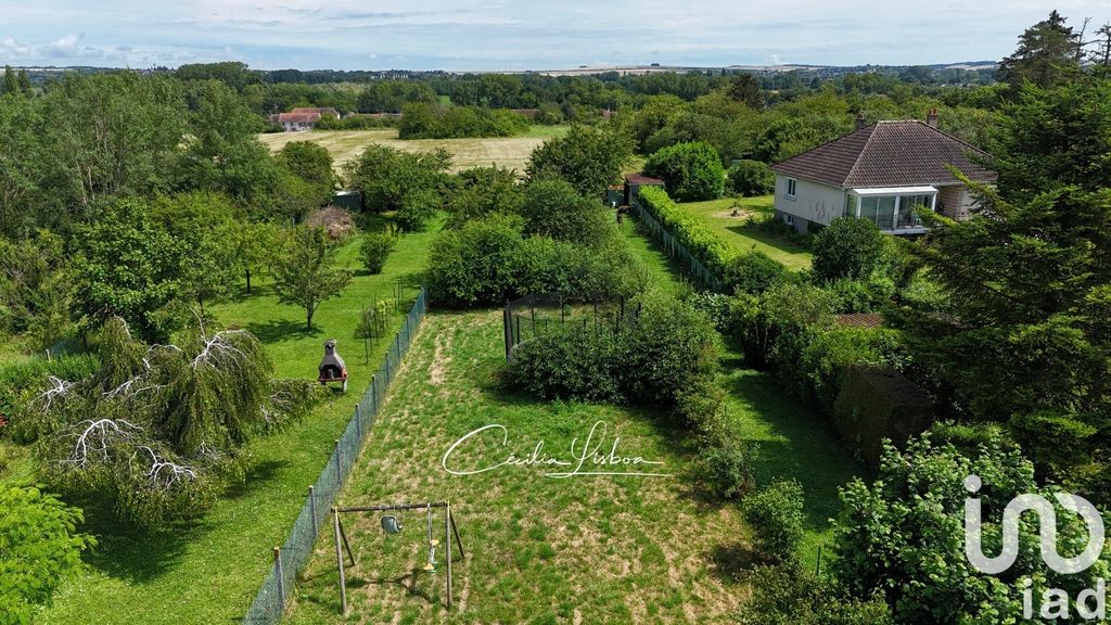
[[757, 549], [774, 562], [798, 558], [802, 543], [802, 485], [793, 479], [773, 482], [743, 503], [744, 518], [752, 526]]

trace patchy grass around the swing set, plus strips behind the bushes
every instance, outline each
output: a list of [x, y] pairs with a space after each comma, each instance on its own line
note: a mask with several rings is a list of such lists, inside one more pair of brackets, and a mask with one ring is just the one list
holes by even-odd
[[[660, 250], [624, 231], [657, 285], [682, 289]], [[688, 434], [659, 411], [547, 403], [497, 384], [503, 364], [499, 310], [433, 312], [401, 368], [341, 505], [447, 499], [467, 549], [454, 563], [454, 607], [444, 607], [443, 547], [437, 573], [428, 557], [423, 512], [397, 513], [404, 532], [386, 536], [380, 515], [347, 515], [358, 565], [349, 568], [347, 617], [339, 614], [334, 538], [326, 530], [299, 582], [290, 623], [728, 623], [743, 609], [752, 564], [739, 508], [695, 486]], [[799, 479], [808, 494], [802, 558], [812, 566], [828, 539], [835, 487], [857, 465], [833, 435], [784, 398], [764, 374], [722, 361], [730, 416], [761, 449], [754, 470]], [[595, 423], [620, 436], [623, 456], [662, 462], [669, 477], [546, 476], [550, 467], [503, 466], [477, 475], [444, 469], [460, 437], [491, 424], [501, 433], [467, 445], [448, 460], [478, 468], [508, 454], [528, 457], [538, 443], [565, 457]], [[820, 469], [819, 469], [820, 467]], [[595, 467], [597, 468], [597, 467]], [[439, 520], [441, 517], [437, 517]], [[436, 525], [437, 536], [442, 525]]]

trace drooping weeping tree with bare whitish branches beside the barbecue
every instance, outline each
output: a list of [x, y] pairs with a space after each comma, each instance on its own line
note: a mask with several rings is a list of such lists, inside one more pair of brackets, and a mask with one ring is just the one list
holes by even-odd
[[273, 365], [250, 333], [198, 324], [180, 343], [146, 345], [109, 319], [96, 374], [51, 378], [26, 401], [48, 483], [153, 527], [203, 512], [243, 475], [239, 448], [298, 406], [274, 396]]

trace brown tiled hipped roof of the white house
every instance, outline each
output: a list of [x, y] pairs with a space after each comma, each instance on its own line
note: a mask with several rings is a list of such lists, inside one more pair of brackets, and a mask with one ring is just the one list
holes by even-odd
[[972, 180], [995, 175], [977, 162], [988, 153], [925, 122], [880, 121], [773, 165], [777, 173], [840, 188], [951, 185], [955, 167]]

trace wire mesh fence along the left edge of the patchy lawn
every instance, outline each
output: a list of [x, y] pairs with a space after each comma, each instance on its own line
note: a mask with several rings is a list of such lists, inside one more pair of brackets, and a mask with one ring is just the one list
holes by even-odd
[[347, 429], [336, 442], [336, 449], [328, 459], [328, 465], [320, 473], [317, 483], [309, 488], [308, 497], [293, 523], [289, 538], [284, 545], [274, 549], [273, 565], [254, 596], [247, 616], [243, 617], [244, 624], [273, 625], [281, 621], [294, 579], [308, 564], [320, 528], [327, 525], [336, 496], [350, 475], [362, 443], [374, 425], [374, 417], [390, 387], [390, 381], [397, 375], [412, 336], [424, 318], [427, 299], [428, 291], [421, 287], [404, 324], [387, 349], [386, 358], [371, 377], [370, 386], [359, 399], [359, 404], [356, 405], [354, 415], [348, 423]]

